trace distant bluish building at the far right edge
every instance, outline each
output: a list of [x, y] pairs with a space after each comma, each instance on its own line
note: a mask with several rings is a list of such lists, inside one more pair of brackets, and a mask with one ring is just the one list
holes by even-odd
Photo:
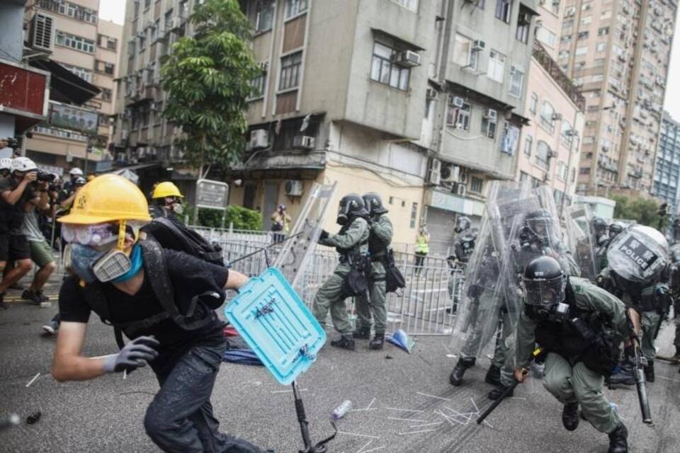
[[680, 215], [680, 122], [665, 111], [656, 156], [652, 195], [667, 202], [672, 215]]

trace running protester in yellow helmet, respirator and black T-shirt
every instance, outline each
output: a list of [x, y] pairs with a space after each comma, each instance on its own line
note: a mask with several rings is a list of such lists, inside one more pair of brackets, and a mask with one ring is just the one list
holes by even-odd
[[[150, 365], [161, 383], [147, 408], [147, 435], [165, 452], [262, 452], [220, 434], [210, 396], [226, 350], [215, 315], [225, 289], [248, 278], [144, 239], [149, 222], [142, 191], [121, 176], [98, 176], [61, 217], [65, 256], [74, 273], [59, 295], [62, 323], [52, 376], [84, 381]], [[84, 357], [86, 324], [94, 311], [130, 341], [104, 357]], [[190, 314], [186, 316], [186, 314]]]

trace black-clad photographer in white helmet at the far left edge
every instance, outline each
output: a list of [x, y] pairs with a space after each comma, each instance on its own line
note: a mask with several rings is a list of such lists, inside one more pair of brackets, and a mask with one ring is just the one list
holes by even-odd
[[35, 181], [38, 180], [38, 166], [28, 157], [13, 159], [11, 176], [0, 178], [0, 271], [8, 262], [15, 267], [6, 273], [0, 282], [0, 308], [6, 309], [4, 293], [14, 283], [21, 280], [31, 269], [30, 248], [26, 234], [23, 234], [23, 217], [26, 205], [31, 200], [40, 199]]

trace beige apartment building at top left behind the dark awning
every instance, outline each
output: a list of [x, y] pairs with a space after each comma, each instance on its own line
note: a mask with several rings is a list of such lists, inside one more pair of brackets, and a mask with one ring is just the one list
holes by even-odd
[[26, 44], [35, 65], [67, 69], [89, 91], [84, 105], [52, 96], [49, 120], [26, 142], [26, 156], [60, 175], [74, 166], [95, 172], [112, 164], [108, 144], [123, 26], [98, 18], [99, 1], [31, 0], [26, 8]]

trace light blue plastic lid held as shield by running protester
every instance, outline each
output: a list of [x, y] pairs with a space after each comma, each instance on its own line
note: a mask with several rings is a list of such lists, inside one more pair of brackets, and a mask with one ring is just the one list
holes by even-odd
[[225, 316], [280, 384], [307, 371], [326, 343], [324, 329], [276, 268], [239, 289]]

